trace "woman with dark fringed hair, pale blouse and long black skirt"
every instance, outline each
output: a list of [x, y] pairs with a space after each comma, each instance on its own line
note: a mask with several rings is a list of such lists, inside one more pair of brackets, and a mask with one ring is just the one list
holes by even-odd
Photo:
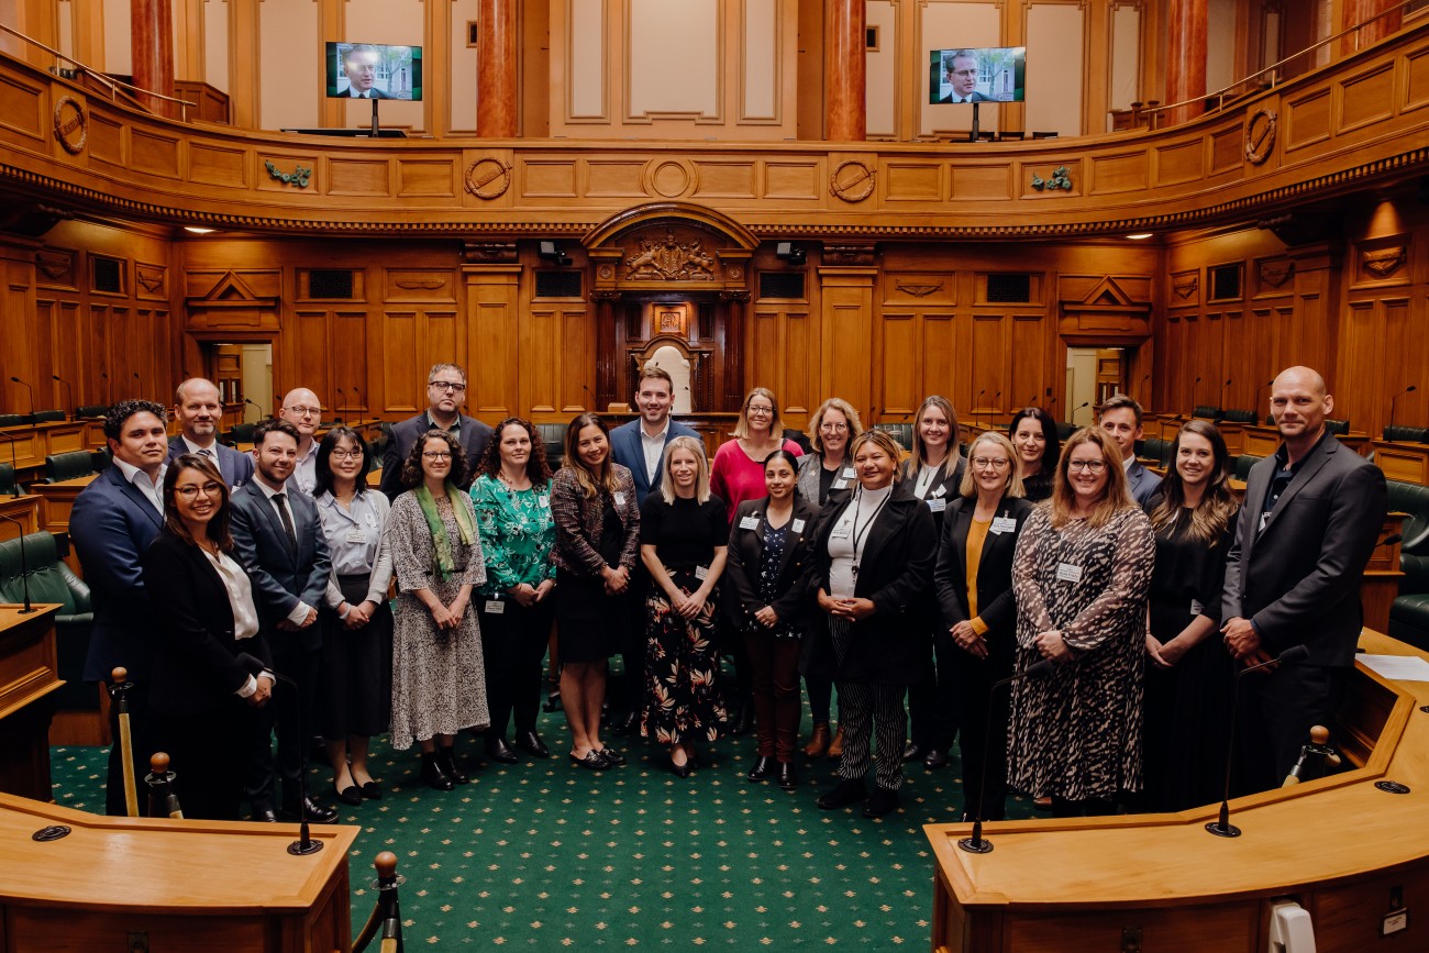
[[392, 553], [383, 529], [392, 504], [367, 487], [367, 444], [333, 427], [317, 444], [317, 519], [333, 574], [319, 623], [319, 727], [333, 764], [333, 790], [344, 804], [377, 800], [367, 770], [367, 740], [387, 730], [392, 703]]

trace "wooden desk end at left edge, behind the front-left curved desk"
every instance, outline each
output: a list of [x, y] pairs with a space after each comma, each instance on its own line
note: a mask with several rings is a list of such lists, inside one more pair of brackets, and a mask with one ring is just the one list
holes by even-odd
[[64, 684], [54, 653], [57, 610], [34, 604], [26, 616], [20, 606], [0, 606], [0, 792], [36, 800], [50, 800], [51, 696]]

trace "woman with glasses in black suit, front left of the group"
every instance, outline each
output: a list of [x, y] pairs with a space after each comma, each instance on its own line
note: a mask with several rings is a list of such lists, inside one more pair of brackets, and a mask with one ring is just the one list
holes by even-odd
[[150, 707], [184, 817], [239, 819], [246, 759], [234, 752], [273, 692], [253, 589], [231, 553], [223, 476], [197, 454], [173, 460], [143, 570], [159, 633]]

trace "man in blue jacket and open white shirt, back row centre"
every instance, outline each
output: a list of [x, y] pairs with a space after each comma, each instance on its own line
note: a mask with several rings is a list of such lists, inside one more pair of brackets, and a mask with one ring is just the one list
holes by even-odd
[[[674, 381], [663, 367], [646, 364], [636, 383], [634, 406], [640, 417], [623, 423], [610, 431], [610, 456], [634, 476], [634, 496], [642, 504], [644, 497], [660, 489], [664, 461], [664, 447], [676, 437], [699, 434], [683, 424], [670, 420], [674, 404]], [[632, 580], [630, 622], [626, 626], [624, 644], [620, 656], [624, 659], [624, 689], [622, 690], [622, 713], [612, 722], [610, 732], [617, 737], [630, 734], [639, 719], [644, 693], [644, 590], [649, 576], [640, 567]]]

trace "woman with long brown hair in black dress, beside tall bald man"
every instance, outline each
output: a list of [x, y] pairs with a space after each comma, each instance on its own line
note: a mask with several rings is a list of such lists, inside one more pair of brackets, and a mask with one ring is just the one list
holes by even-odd
[[1147, 810], [1185, 810], [1222, 794], [1235, 660], [1216, 637], [1226, 553], [1239, 509], [1215, 424], [1190, 420], [1175, 467], [1146, 503], [1156, 533], [1146, 629]]

